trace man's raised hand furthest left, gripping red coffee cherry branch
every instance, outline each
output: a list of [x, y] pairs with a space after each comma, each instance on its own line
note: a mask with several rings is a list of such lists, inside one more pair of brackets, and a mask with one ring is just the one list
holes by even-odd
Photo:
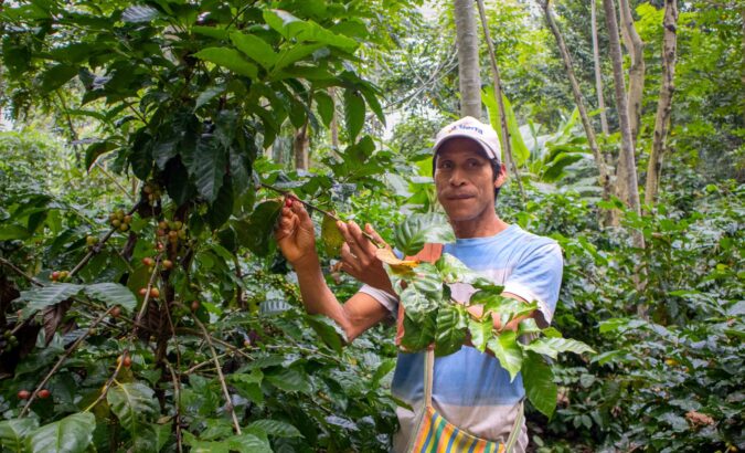
[[291, 196], [285, 199], [274, 236], [294, 267], [311, 260], [318, 262], [313, 222], [302, 203]]

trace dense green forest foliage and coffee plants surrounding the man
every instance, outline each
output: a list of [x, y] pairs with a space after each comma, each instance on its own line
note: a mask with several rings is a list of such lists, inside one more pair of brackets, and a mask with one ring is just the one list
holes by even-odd
[[[640, 188], [662, 3], [631, 2], [647, 63]], [[640, 214], [603, 199], [534, 7], [487, 3], [525, 190], [512, 175], [497, 210], [562, 246], [553, 327], [530, 345], [482, 328], [447, 304], [444, 282], [468, 281], [508, 316], [525, 307], [444, 257], [393, 274], [419, 308], [406, 345], [447, 354], [468, 333], [510, 372], [535, 367], [538, 451], [743, 450], [742, 8], [680, 2], [661, 190]], [[593, 106], [589, 6], [553, 8]], [[407, 254], [451, 233], [428, 149], [459, 112], [450, 2], [34, 0], [2, 6], [0, 30], [0, 449], [387, 451], [401, 403], [393, 327], [345, 345], [333, 322], [306, 314], [272, 231], [288, 191], [316, 207], [342, 301], [359, 283], [334, 267], [323, 211], [373, 224]], [[606, 49], [603, 27], [598, 38]], [[611, 131], [597, 134], [615, 162], [602, 63]], [[304, 149], [308, 168], [296, 166]], [[618, 225], [604, 221], [611, 211]]]

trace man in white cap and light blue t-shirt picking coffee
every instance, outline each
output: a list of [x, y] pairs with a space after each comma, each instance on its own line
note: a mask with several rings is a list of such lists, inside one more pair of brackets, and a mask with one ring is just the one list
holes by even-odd
[[[494, 210], [507, 170], [500, 159], [497, 133], [471, 117], [455, 122], [437, 134], [434, 179], [437, 198], [445, 209], [456, 242], [445, 244], [449, 253], [468, 267], [504, 286], [503, 295], [523, 302], [538, 301], [534, 317], [541, 327], [551, 322], [562, 278], [562, 253], [547, 238], [528, 233], [502, 221]], [[300, 293], [310, 313], [322, 313], [336, 320], [351, 341], [368, 328], [397, 313], [397, 298], [375, 246], [354, 223], [339, 223], [345, 239], [342, 270], [365, 285], [347, 303], [340, 304], [326, 285], [316, 254], [313, 224], [302, 204], [283, 208], [276, 238], [281, 252], [295, 267]], [[369, 234], [380, 236], [370, 225]], [[451, 285], [454, 301], [468, 301], [469, 285]], [[480, 306], [469, 307], [480, 316]], [[517, 328], [517, 319], [504, 328]], [[494, 327], [500, 329], [494, 316]], [[398, 355], [392, 392], [414, 409], [423, 401], [424, 354]], [[464, 346], [458, 352], [437, 358], [434, 368], [434, 408], [450, 423], [476, 436], [507, 442], [522, 410], [522, 377], [514, 381], [499, 360]], [[394, 451], [403, 451], [414, 431], [414, 412], [398, 408], [401, 431]], [[528, 445], [524, 423], [514, 451]]]

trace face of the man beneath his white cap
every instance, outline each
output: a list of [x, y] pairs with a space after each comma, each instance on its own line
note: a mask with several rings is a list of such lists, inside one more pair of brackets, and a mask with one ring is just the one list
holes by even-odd
[[453, 222], [478, 220], [494, 212], [494, 188], [504, 182], [504, 172], [494, 180], [481, 149], [470, 138], [455, 137], [445, 141], [435, 157], [437, 198]]

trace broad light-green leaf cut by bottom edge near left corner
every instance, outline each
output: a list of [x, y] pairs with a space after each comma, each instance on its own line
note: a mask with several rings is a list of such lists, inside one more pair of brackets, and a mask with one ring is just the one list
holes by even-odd
[[26, 440], [26, 446], [32, 452], [83, 452], [91, 445], [95, 429], [96, 418], [93, 413], [74, 413], [33, 431]]

